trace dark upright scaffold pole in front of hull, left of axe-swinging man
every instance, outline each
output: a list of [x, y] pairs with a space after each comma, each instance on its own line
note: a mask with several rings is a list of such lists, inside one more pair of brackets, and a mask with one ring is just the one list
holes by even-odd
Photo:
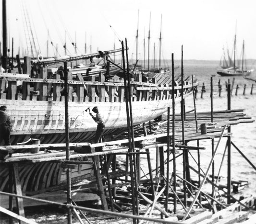
[[[69, 113], [68, 113], [68, 68], [67, 62], [64, 62], [64, 90], [65, 90], [65, 133], [66, 133], [66, 160], [69, 160]], [[71, 204], [71, 171], [67, 168], [67, 202]], [[68, 209], [68, 224], [72, 224], [71, 209]]]

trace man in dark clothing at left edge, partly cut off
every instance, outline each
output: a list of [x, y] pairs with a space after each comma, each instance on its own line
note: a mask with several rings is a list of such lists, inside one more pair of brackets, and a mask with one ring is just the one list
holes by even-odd
[[6, 111], [6, 106], [0, 107], [0, 142], [4, 140], [4, 146], [11, 146], [11, 118]]

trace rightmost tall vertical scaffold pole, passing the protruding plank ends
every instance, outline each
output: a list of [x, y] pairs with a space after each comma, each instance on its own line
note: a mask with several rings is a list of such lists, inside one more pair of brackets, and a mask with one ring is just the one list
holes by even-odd
[[[231, 89], [230, 84], [228, 84], [228, 110], [231, 110]], [[228, 133], [231, 133], [231, 125], [228, 126]], [[228, 204], [231, 202], [230, 194], [231, 194], [231, 136], [228, 136], [227, 140], [228, 145], [228, 168], [227, 168], [227, 188], [228, 188]]]

